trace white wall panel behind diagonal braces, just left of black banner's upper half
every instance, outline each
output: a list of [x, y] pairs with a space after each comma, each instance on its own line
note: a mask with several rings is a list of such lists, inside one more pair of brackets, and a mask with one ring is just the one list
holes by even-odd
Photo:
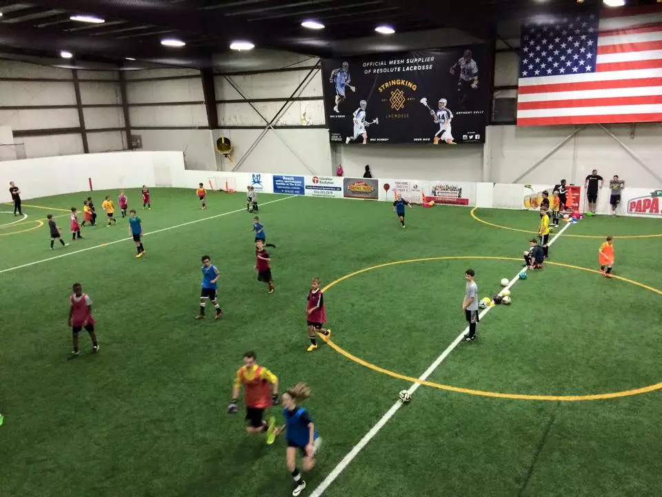
[[[234, 84], [248, 99], [288, 98], [297, 89], [309, 70], [265, 72], [256, 75], [230, 76]], [[322, 97], [321, 70], [308, 78], [305, 88], [299, 90], [295, 97]], [[222, 76], [214, 77], [217, 100], [234, 100], [241, 95]]]

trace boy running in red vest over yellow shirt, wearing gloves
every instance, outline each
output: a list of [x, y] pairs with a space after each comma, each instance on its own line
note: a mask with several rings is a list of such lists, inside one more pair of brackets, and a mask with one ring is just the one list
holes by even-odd
[[[239, 411], [237, 401], [239, 400], [239, 389], [244, 387], [244, 401], [246, 404], [246, 420], [248, 433], [267, 432], [268, 440], [274, 437], [276, 418], [269, 418], [267, 423], [262, 419], [264, 410], [272, 405], [279, 405], [278, 377], [263, 366], [257, 364], [257, 356], [253, 351], [243, 355], [243, 366], [237, 369], [232, 385], [232, 401], [228, 406], [230, 414]], [[271, 385], [271, 389], [269, 388]]]

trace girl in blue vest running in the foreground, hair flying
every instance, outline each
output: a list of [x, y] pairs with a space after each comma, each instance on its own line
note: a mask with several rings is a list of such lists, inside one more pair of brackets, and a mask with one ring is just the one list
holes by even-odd
[[[305, 489], [305, 481], [297, 469], [297, 451], [301, 452], [303, 471], [310, 471], [315, 465], [315, 455], [319, 451], [322, 439], [315, 429], [312, 418], [304, 407], [298, 405], [310, 397], [310, 388], [305, 383], [297, 383], [283, 393], [283, 417], [285, 425], [277, 428], [274, 435], [285, 431], [288, 441], [287, 465], [294, 479], [292, 496], [296, 497]], [[269, 440], [268, 440], [269, 441]]]

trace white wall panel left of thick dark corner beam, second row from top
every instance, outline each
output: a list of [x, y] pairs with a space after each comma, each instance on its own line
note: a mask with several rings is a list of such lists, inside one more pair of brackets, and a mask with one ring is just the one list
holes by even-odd
[[194, 79], [167, 79], [165, 81], [132, 81], [126, 86], [129, 104], [158, 102], [203, 101], [202, 81]]

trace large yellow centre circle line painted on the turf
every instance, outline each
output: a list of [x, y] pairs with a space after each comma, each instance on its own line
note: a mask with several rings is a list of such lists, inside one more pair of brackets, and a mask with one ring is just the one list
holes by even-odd
[[[361, 273], [367, 273], [368, 271], [372, 271], [373, 269], [380, 269], [383, 267], [387, 266], [396, 266], [398, 264], [410, 264], [412, 262], [427, 262], [427, 261], [434, 261], [434, 260], [469, 260], [469, 259], [487, 259], [487, 260], [513, 260], [513, 261], [519, 261], [519, 259], [515, 257], [496, 257], [496, 256], [480, 256], [480, 255], [463, 255], [463, 256], [458, 256], [458, 255], [450, 255], [450, 256], [445, 256], [445, 257], [423, 257], [421, 259], [408, 259], [408, 260], [402, 260], [402, 261], [394, 261], [394, 262], [385, 262], [384, 264], [377, 264], [376, 266], [370, 266], [364, 269], [359, 269], [359, 271], [354, 271], [353, 273], [349, 273], [347, 275], [344, 275], [343, 277], [339, 277], [337, 280], [334, 280], [330, 282], [328, 285], [326, 285], [322, 291], [325, 292], [328, 289], [332, 288], [333, 286], [337, 285], [338, 283], [347, 280], [348, 278], [352, 276], [359, 275]], [[567, 267], [570, 269], [579, 269], [580, 271], [587, 271], [589, 273], [597, 273], [601, 274], [600, 271], [596, 271], [595, 269], [590, 269], [590, 268], [585, 268], [581, 266], [573, 266], [572, 264], [563, 264], [562, 262], [545, 262], [545, 264], [552, 264], [553, 266], [561, 266], [561, 267]], [[618, 275], [612, 275], [613, 278], [616, 278], [616, 280], [621, 280], [630, 284], [634, 284], [636, 286], [640, 286], [643, 289], [652, 291], [654, 293], [657, 293], [658, 295], [662, 295], [662, 290], [653, 288], [652, 286], [648, 286], [646, 284], [636, 282], [634, 280], [629, 280], [628, 278], [618, 276]], [[639, 395], [641, 393], [648, 393], [652, 392], [655, 390], [662, 389], [662, 382], [660, 383], [655, 383], [648, 385], [646, 387], [641, 387], [637, 389], [630, 389], [630, 390], [623, 390], [623, 391], [617, 391], [617, 392], [608, 392], [608, 393], [592, 393], [589, 395], [573, 395], [573, 396], [552, 396], [552, 395], [536, 395], [536, 394], [527, 394], [527, 393], [501, 393], [501, 392], [494, 392], [494, 391], [486, 391], [486, 390], [478, 390], [478, 389], [469, 389], [469, 388], [463, 388], [463, 387], [454, 387], [449, 384], [443, 384], [443, 383], [437, 383], [437, 382], [431, 382], [428, 380], [419, 380], [419, 378], [414, 378], [413, 376], [407, 376], [403, 375], [401, 373], [397, 373], [396, 371], [391, 371], [390, 369], [385, 369], [381, 366], [377, 366], [377, 364], [372, 364], [372, 362], [365, 361], [356, 355], [346, 351], [342, 347], [339, 347], [337, 344], [332, 342], [332, 340], [328, 341], [329, 347], [331, 347], [334, 351], [338, 352], [339, 354], [343, 355], [345, 358], [348, 358], [349, 360], [356, 362], [357, 364], [361, 364], [361, 366], [367, 367], [368, 369], [372, 369], [373, 371], [377, 371], [378, 373], [385, 374], [387, 376], [391, 376], [392, 378], [398, 378], [399, 380], [405, 380], [409, 381], [412, 383], [420, 383], [425, 385], [426, 387], [433, 387], [436, 389], [440, 390], [448, 390], [448, 391], [454, 391], [458, 393], [468, 393], [469, 395], [474, 395], [474, 396], [483, 396], [483, 397], [493, 397], [493, 398], [507, 398], [507, 399], [514, 399], [514, 400], [545, 400], [545, 401], [561, 401], [561, 402], [581, 402], [581, 401], [586, 401], [586, 400], [606, 400], [606, 399], [612, 399], [612, 398], [619, 398], [619, 397], [629, 397], [629, 396], [635, 396]]]

